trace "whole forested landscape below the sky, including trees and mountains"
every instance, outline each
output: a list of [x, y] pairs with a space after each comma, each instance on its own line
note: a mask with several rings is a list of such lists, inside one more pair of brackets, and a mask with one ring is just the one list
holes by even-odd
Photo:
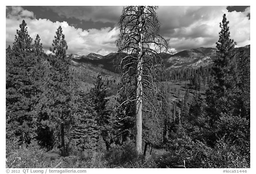
[[147, 43], [127, 50], [125, 8], [106, 56], [68, 55], [61, 27], [45, 54], [22, 21], [6, 49], [7, 168], [250, 168], [250, 45], [235, 48], [223, 15], [216, 49], [160, 53], [159, 23], [132, 7]]

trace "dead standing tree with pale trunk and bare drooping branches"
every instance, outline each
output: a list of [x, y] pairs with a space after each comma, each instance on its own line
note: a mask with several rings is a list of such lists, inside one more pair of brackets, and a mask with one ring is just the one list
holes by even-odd
[[[159, 33], [160, 23], [155, 6], [124, 7], [119, 21], [120, 36], [116, 41], [122, 87], [119, 93], [126, 95], [122, 104], [136, 104], [136, 151], [142, 153], [142, 103], [145, 101], [154, 113], [154, 97], [159, 72], [163, 72], [159, 53], [168, 50], [168, 44]], [[123, 54], [122, 54], [123, 55]], [[120, 105], [122, 105], [120, 104]]]

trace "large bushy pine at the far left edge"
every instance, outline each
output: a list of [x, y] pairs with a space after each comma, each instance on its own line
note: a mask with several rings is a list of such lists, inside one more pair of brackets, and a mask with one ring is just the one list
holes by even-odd
[[35, 108], [41, 93], [37, 81], [40, 63], [31, 52], [32, 39], [26, 26], [23, 20], [6, 54], [6, 119], [20, 144], [30, 143], [36, 136]]

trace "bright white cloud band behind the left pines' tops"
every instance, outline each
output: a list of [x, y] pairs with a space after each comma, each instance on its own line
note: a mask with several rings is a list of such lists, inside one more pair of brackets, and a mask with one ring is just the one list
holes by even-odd
[[[21, 19], [17, 16], [23, 15], [26, 12], [23, 8], [15, 8], [16, 12], [10, 11], [6, 19], [6, 46], [12, 45], [14, 35], [19, 29]], [[16, 14], [16, 17], [14, 17]], [[28, 14], [28, 13], [27, 13]], [[118, 37], [118, 28], [111, 29], [105, 27], [101, 29], [82, 30], [70, 26], [67, 22], [55, 22], [48, 19], [31, 19], [30, 16], [23, 17], [28, 26], [28, 34], [35, 39], [38, 34], [43, 44], [44, 50], [48, 52], [52, 46], [55, 32], [59, 26], [62, 26], [65, 39], [68, 44], [68, 53], [72, 54], [89, 54], [91, 52], [106, 55], [116, 51], [115, 40]], [[101, 49], [101, 50], [99, 50]]]

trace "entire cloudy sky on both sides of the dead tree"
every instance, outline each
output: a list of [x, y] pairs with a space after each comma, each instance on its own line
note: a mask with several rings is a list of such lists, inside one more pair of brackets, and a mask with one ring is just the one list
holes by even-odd
[[[49, 51], [55, 32], [62, 26], [69, 54], [116, 52], [118, 20], [122, 6], [6, 6], [6, 47], [12, 46], [24, 19], [32, 39], [38, 34]], [[230, 21], [237, 46], [250, 44], [249, 6], [159, 6], [160, 34], [170, 50], [216, 47], [219, 23], [224, 13]]]

